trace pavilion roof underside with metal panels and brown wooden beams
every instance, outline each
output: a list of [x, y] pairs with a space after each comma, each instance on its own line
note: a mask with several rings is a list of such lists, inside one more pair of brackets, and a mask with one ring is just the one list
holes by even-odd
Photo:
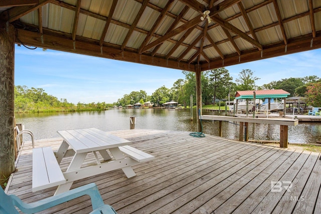
[[321, 48], [318, 0], [3, 0], [0, 13], [17, 44], [188, 71]]

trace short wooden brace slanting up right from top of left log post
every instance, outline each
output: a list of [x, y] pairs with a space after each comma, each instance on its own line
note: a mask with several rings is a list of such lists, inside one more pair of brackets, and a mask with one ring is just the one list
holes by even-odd
[[[26, 1], [25, 1], [26, 2]], [[9, 22], [14, 22], [26, 14], [37, 10], [38, 8], [50, 3], [51, 0], [39, 0], [39, 3], [32, 6], [22, 6], [22, 7], [14, 7], [8, 10], [9, 12]]]

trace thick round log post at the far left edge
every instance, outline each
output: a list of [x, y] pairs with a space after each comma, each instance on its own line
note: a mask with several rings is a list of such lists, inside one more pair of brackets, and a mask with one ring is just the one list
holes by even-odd
[[[0, 184], [15, 171], [15, 28], [0, 18]], [[8, 18], [8, 17], [7, 17]], [[1, 187], [0, 187], [1, 188]]]

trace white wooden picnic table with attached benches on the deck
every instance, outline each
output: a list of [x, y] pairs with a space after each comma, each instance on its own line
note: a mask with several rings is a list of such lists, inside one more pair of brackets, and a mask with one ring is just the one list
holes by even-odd
[[[136, 175], [131, 167], [132, 165], [143, 161], [149, 161], [154, 158], [154, 156], [150, 154], [129, 146], [131, 144], [130, 141], [96, 128], [63, 130], [58, 131], [58, 133], [64, 140], [55, 155], [56, 161], [53, 161], [52, 158], [49, 160], [51, 154], [48, 150], [51, 149], [48, 149], [48, 147], [34, 149], [33, 191], [59, 185], [55, 192], [56, 195], [68, 191], [75, 180], [115, 169], [122, 169], [129, 178]], [[66, 154], [70, 153], [69, 148], [73, 150], [73, 152], [71, 152], [73, 153], [73, 158], [67, 170], [61, 172], [58, 167], [57, 171], [57, 165], [59, 166], [63, 157], [68, 156]], [[113, 158], [109, 155], [107, 150], [109, 150]], [[81, 167], [87, 154], [90, 152], [94, 154], [97, 164]], [[97, 152], [100, 153], [104, 161], [99, 159]], [[42, 161], [42, 159], [44, 160]], [[44, 169], [47, 171], [49, 177], [48, 181], [45, 181], [46, 179], [44, 178], [40, 178], [45, 177], [44, 175], [39, 176], [40, 173], [44, 173]], [[56, 173], [53, 173], [52, 170], [55, 170]], [[57, 178], [58, 175], [59, 178]]]

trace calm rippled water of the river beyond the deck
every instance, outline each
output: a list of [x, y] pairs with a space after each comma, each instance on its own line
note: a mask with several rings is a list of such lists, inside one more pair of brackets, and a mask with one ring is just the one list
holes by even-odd
[[[217, 114], [203, 112], [203, 114]], [[222, 112], [224, 114], [224, 112]], [[16, 114], [16, 122], [25, 125], [35, 139], [59, 137], [57, 131], [95, 127], [103, 131], [129, 129], [129, 118], [135, 117], [135, 128], [197, 131], [196, 111], [191, 121], [190, 109], [111, 109], [73, 113]], [[218, 135], [218, 121], [203, 121], [203, 133]], [[279, 140], [279, 125], [249, 123], [249, 139]], [[223, 121], [223, 137], [238, 139], [239, 126]], [[321, 141], [321, 123], [299, 123], [288, 127], [288, 141], [315, 143]], [[28, 140], [27, 136], [25, 140]]]

